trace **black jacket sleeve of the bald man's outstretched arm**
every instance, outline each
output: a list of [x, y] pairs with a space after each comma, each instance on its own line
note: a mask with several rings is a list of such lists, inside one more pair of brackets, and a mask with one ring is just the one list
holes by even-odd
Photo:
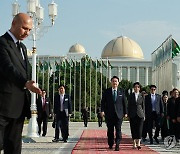
[[0, 40], [0, 74], [13, 82], [15, 85], [24, 88], [27, 79], [23, 77], [21, 72], [13, 65], [8, 53], [7, 45], [2, 39]]

